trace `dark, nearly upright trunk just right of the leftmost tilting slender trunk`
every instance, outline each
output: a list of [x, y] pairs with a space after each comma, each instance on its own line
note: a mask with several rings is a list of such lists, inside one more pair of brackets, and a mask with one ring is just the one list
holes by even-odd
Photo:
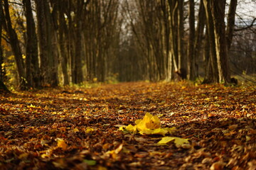
[[26, 81], [33, 88], [41, 87], [38, 62], [38, 40], [36, 26], [33, 20], [31, 0], [23, 0], [26, 15]]

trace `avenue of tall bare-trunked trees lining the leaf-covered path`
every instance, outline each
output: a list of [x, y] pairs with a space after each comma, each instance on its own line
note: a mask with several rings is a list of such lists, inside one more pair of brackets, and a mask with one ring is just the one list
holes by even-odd
[[0, 1], [1, 87], [200, 76], [230, 84], [231, 74], [255, 74], [256, 19], [237, 8], [245, 2]]

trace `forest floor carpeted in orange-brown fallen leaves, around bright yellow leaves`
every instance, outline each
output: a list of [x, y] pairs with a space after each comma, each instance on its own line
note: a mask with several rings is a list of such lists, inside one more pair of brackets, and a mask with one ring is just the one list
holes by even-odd
[[[119, 130], [145, 113], [166, 136]], [[0, 96], [0, 169], [256, 169], [256, 86], [123, 83]]]

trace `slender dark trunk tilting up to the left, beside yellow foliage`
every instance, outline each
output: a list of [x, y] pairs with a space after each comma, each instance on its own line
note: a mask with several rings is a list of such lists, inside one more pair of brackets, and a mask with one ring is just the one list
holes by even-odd
[[4, 0], [4, 11], [5, 11], [5, 19], [6, 19], [6, 32], [10, 38], [11, 49], [14, 52], [14, 57], [16, 61], [16, 66], [18, 70], [18, 89], [25, 90], [26, 89], [26, 74], [24, 62], [22, 59], [21, 47], [19, 46], [18, 36], [11, 26], [11, 17], [9, 13], [9, 4], [7, 0]]

